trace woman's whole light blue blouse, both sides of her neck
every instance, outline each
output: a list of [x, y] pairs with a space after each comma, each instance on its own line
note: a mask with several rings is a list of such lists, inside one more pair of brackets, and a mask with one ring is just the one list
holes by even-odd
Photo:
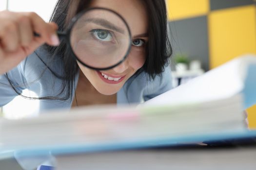
[[[40, 60], [39, 56], [42, 60]], [[39, 48], [16, 68], [7, 73], [9, 79], [20, 93], [23, 89], [29, 89], [38, 94], [39, 97], [56, 97], [59, 94], [62, 80], [53, 75], [43, 62], [55, 73], [61, 75], [63, 72], [60, 59], [50, 56], [43, 48]], [[78, 75], [75, 79], [75, 85], [78, 82]], [[128, 79], [118, 91], [117, 104], [147, 101], [171, 88], [172, 77], [169, 66], [154, 80], [149, 80], [148, 74], [142, 72], [136, 78]], [[0, 107], [12, 101], [17, 95], [10, 86], [6, 75], [0, 75]], [[61, 93], [58, 97], [64, 97], [64, 94]], [[71, 107], [73, 97], [72, 100], [67, 101], [40, 100], [39, 111], [44, 112], [48, 109], [58, 108], [68, 109]]]

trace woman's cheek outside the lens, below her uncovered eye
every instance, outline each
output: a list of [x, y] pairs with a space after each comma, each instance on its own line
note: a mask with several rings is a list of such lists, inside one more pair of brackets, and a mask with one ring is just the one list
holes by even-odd
[[146, 61], [145, 51], [132, 49], [129, 55], [129, 64], [132, 68], [138, 70]]

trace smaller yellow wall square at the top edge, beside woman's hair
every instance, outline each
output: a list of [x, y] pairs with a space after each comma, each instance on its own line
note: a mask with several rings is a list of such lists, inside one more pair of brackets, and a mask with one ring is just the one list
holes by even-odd
[[166, 0], [169, 20], [206, 15], [209, 0]]

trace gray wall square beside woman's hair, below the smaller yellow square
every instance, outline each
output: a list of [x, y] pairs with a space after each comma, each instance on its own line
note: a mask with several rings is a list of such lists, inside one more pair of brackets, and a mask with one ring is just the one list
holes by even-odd
[[173, 56], [187, 54], [190, 60], [200, 60], [202, 68], [209, 70], [207, 16], [172, 21], [169, 26]]

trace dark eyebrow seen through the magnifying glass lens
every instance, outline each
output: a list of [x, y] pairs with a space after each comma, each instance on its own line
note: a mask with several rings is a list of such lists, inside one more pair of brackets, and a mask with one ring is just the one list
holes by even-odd
[[109, 22], [106, 19], [102, 19], [102, 18], [87, 18], [84, 20], [85, 22], [92, 22], [95, 23], [97, 25], [100, 25], [104, 28], [110, 29], [110, 30], [114, 30], [118, 33], [124, 34], [125, 31], [122, 28], [119, 28], [118, 26], [114, 25], [113, 23]]

